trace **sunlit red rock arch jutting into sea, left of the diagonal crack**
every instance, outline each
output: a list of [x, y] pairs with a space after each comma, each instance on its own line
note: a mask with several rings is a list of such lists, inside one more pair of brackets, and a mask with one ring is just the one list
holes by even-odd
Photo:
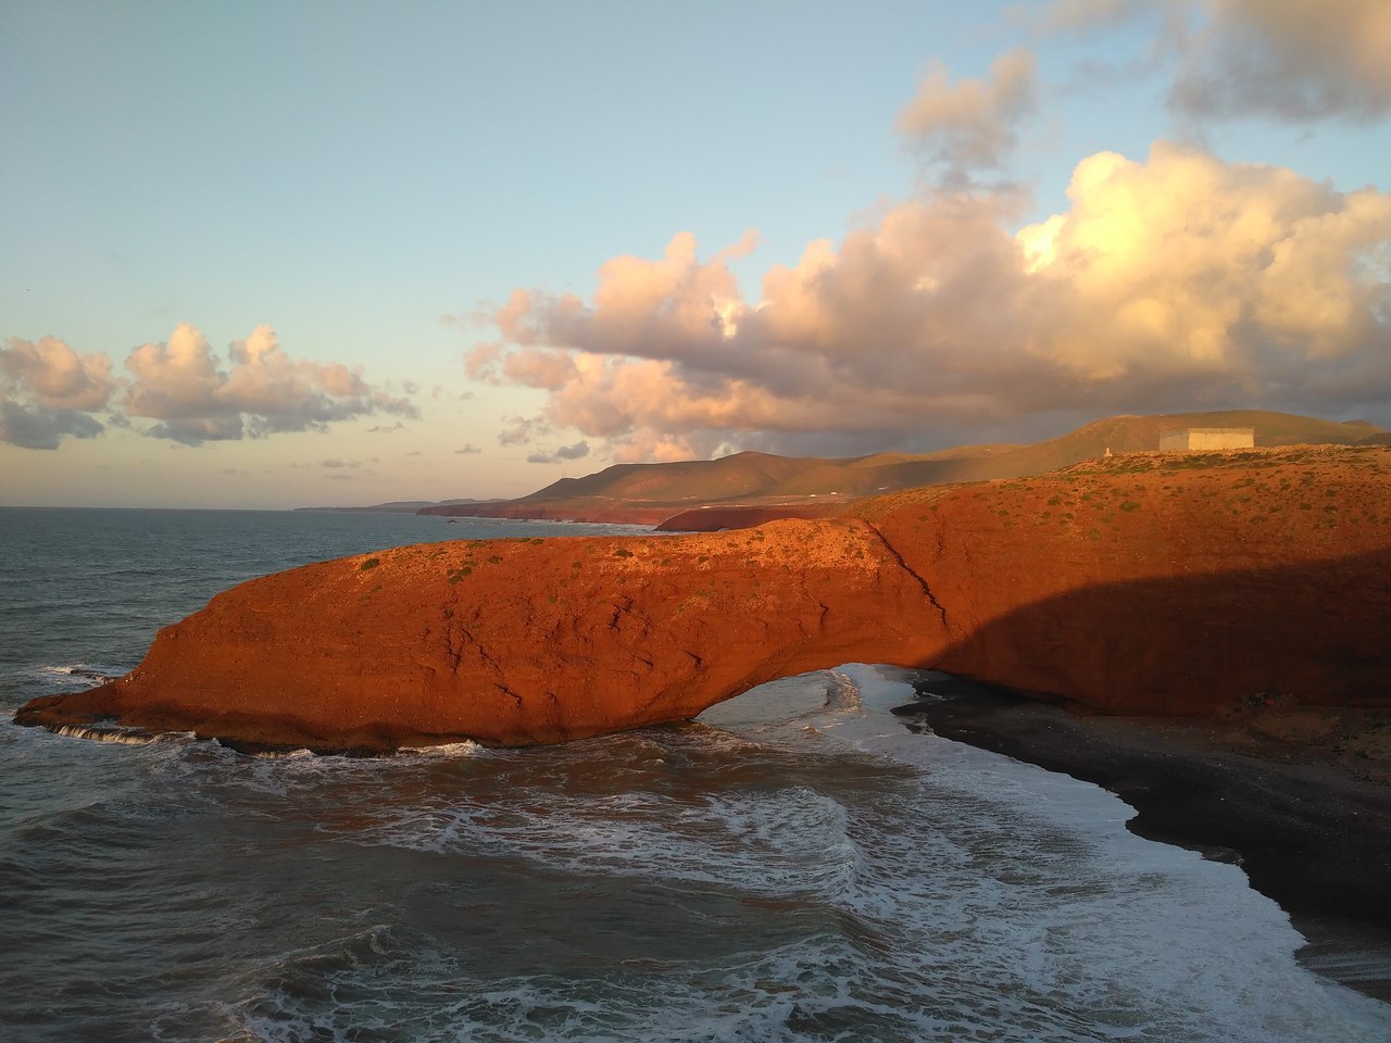
[[316, 748], [551, 743], [924, 641], [944, 645], [940, 613], [857, 520], [428, 544], [235, 587], [127, 677], [19, 719]]

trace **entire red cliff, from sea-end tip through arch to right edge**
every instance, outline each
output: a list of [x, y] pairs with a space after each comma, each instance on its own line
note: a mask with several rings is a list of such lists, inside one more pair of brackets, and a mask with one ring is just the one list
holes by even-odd
[[430, 544], [214, 598], [17, 719], [547, 743], [850, 661], [1102, 712], [1391, 704], [1391, 449], [1123, 456], [712, 535]]

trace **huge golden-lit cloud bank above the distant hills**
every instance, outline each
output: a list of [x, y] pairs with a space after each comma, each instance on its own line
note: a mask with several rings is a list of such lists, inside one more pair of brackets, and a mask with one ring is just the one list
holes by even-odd
[[606, 263], [593, 302], [515, 293], [494, 364], [547, 403], [501, 441], [570, 428], [662, 459], [833, 432], [858, 449], [1021, 416], [1391, 396], [1383, 192], [1160, 142], [1079, 163], [1070, 207], [1036, 225], [1010, 231], [1003, 207], [903, 203], [769, 268], [757, 302], [686, 234]]

